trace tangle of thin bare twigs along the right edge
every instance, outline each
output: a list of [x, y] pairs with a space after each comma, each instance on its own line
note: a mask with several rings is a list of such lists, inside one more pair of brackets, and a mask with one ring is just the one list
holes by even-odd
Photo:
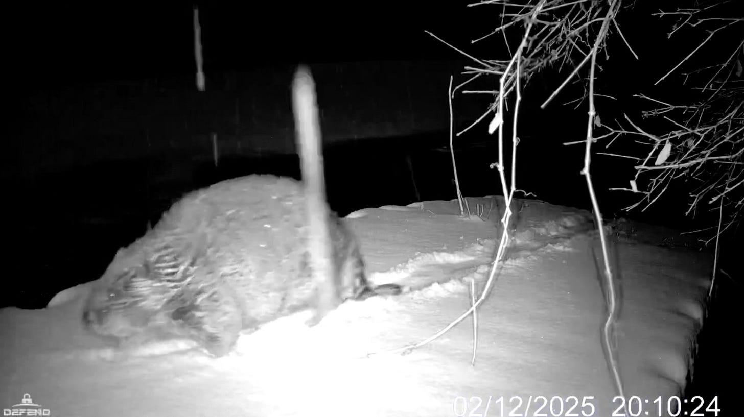
[[[644, 94], [636, 96], [655, 106], [644, 111], [643, 117], [666, 120], [673, 126], [668, 132], [652, 135], [627, 116], [626, 121], [632, 129], [614, 130], [640, 135], [641, 142], [650, 145], [647, 155], [638, 158], [641, 163], [635, 166], [631, 187], [623, 189], [642, 197], [626, 210], [639, 206], [645, 210], [668, 190], [672, 181], [691, 179], [691, 201], [685, 214], [694, 213], [701, 208], [700, 204], [720, 210], [725, 221], [716, 236], [739, 224], [744, 208], [744, 18], [722, 17], [727, 14], [725, 6], [725, 2], [716, 2], [707, 7], [655, 13], [664, 19], [674, 19], [668, 34], [670, 39], [685, 30], [695, 30], [702, 38], [657, 84], [675, 71], [692, 66], [690, 71], [681, 74], [681, 83], [699, 86], [686, 87], [694, 97], [690, 100], [692, 103], [675, 105]], [[722, 47], [727, 44], [731, 47]], [[694, 68], [696, 54], [701, 54], [706, 47], [717, 48], [714, 51], [718, 62]], [[641, 178], [646, 187], [639, 190]]]

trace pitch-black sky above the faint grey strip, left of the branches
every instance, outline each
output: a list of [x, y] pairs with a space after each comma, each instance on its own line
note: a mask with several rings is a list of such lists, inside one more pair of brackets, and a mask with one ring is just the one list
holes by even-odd
[[[424, 30], [461, 45], [487, 30], [472, 26], [484, 21], [484, 13], [465, 7], [466, 1], [271, 3], [199, 6], [205, 71], [300, 61], [459, 58]], [[4, 28], [10, 70], [34, 86], [190, 74], [192, 10], [188, 3], [115, 1], [11, 7], [4, 13], [12, 16]]]

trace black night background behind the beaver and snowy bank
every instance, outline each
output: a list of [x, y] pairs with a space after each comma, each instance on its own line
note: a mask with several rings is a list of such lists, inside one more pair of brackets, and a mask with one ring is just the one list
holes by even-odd
[[[467, 1], [245, 3], [199, 4], [204, 92], [194, 84], [193, 4], [4, 6], [10, 106], [0, 180], [10, 245], [0, 306], [42, 308], [58, 291], [96, 279], [117, 248], [141, 236], [188, 190], [254, 172], [298, 177], [289, 85], [301, 62], [310, 65], [317, 84], [333, 210], [345, 215], [455, 198], [446, 91], [449, 76], [455, 85], [463, 82], [469, 76], [460, 74], [462, 68], [472, 62], [424, 30], [478, 58], [504, 59], [500, 36], [470, 42], [498, 25], [500, 7], [466, 7]], [[614, 97], [597, 98], [604, 123], [623, 114], [640, 119], [648, 103], [632, 94], [690, 100], [691, 87], [680, 87], [679, 77], [652, 84], [707, 33], [667, 41], [669, 26], [650, 16], [657, 6], [637, 4], [618, 18], [640, 59], [616, 33], [610, 38], [603, 56], [609, 61], [597, 78], [597, 92]], [[723, 49], [716, 43], [697, 62]], [[580, 175], [583, 145], [562, 145], [586, 136], [588, 104], [567, 104], [583, 96], [584, 82], [570, 85], [548, 109], [538, 107], [568, 71], [546, 71], [525, 90], [518, 188], [551, 203], [590, 208]], [[482, 78], [469, 88], [498, 89], [496, 77]], [[458, 94], [455, 132], [490, 100]], [[644, 128], [663, 134], [670, 126], [645, 120]], [[486, 129], [484, 121], [455, 138], [464, 195], [501, 193], [498, 173], [488, 167], [498, 158], [496, 138]], [[638, 152], [628, 139], [613, 146], [608, 152]], [[628, 187], [632, 162], [600, 155], [593, 161], [603, 214], [612, 217], [636, 201], [607, 191]], [[711, 225], [705, 210], [696, 219], [684, 217], [685, 185], [676, 183], [652, 209], [623, 216], [687, 230]]]

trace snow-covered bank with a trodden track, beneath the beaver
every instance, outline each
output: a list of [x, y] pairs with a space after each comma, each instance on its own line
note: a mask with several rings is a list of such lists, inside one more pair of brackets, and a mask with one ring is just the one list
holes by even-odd
[[[457, 201], [352, 213], [371, 280], [411, 291], [345, 303], [313, 328], [307, 313], [276, 320], [225, 358], [185, 342], [110, 349], [80, 326], [85, 284], [42, 310], [4, 308], [0, 407], [81, 417], [611, 416], [621, 403], [601, 343], [601, 252], [580, 210], [519, 202], [508, 259], [478, 310], [475, 366], [471, 319], [407, 355], [385, 353], [466, 311], [471, 279], [483, 288], [503, 204], [468, 201], [488, 219], [462, 218]], [[693, 368], [711, 256], [661, 246], [673, 234], [658, 228], [620, 223], [609, 236], [626, 395], [649, 416], [661, 396], [667, 415]], [[27, 393], [38, 407], [22, 404]]]

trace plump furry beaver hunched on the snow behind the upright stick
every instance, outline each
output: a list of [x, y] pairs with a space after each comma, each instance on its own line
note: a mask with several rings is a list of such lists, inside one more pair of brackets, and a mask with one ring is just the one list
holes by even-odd
[[[318, 292], [325, 290], [310, 271], [304, 198], [300, 182], [273, 175], [235, 178], [185, 195], [153, 229], [118, 251], [86, 301], [84, 326], [120, 344], [188, 337], [222, 356], [241, 331], [317, 310]], [[338, 303], [400, 293], [397, 285], [368, 283], [359, 243], [328, 213], [333, 277], [326, 279]]]

